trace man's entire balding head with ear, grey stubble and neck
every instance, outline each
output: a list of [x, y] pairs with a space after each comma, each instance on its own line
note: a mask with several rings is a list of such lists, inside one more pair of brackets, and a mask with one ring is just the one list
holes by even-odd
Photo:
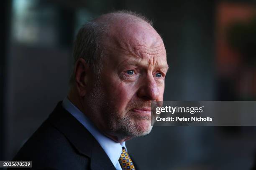
[[79, 30], [69, 98], [109, 138], [151, 130], [151, 101], [162, 101], [168, 70], [160, 35], [140, 15], [108, 13]]

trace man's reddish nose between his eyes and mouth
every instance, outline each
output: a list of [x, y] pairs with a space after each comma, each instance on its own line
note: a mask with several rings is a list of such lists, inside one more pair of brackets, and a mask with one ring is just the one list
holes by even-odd
[[159, 88], [154, 77], [147, 76], [146, 80], [141, 82], [141, 87], [138, 90], [138, 97], [143, 100], [156, 100], [159, 96]]

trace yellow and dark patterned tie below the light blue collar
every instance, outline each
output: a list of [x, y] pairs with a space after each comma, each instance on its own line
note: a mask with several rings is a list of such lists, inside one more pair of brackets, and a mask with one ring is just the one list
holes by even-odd
[[123, 147], [122, 154], [118, 161], [121, 165], [122, 170], [135, 170], [133, 162], [129, 154], [126, 152], [125, 147]]

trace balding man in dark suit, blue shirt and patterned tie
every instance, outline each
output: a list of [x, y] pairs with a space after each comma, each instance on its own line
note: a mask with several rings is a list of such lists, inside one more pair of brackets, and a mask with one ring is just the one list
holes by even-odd
[[164, 43], [145, 18], [118, 11], [85, 24], [68, 96], [14, 160], [46, 169], [136, 169], [125, 141], [151, 131], [151, 101], [163, 100], [167, 70]]

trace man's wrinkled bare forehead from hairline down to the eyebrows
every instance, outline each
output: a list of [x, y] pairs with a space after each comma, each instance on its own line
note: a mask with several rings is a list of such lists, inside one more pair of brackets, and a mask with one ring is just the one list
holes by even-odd
[[115, 62], [115, 65], [140, 63], [145, 67], [154, 65], [168, 68], [164, 43], [156, 30], [146, 22], [119, 21], [110, 28], [105, 47], [107, 62]]

